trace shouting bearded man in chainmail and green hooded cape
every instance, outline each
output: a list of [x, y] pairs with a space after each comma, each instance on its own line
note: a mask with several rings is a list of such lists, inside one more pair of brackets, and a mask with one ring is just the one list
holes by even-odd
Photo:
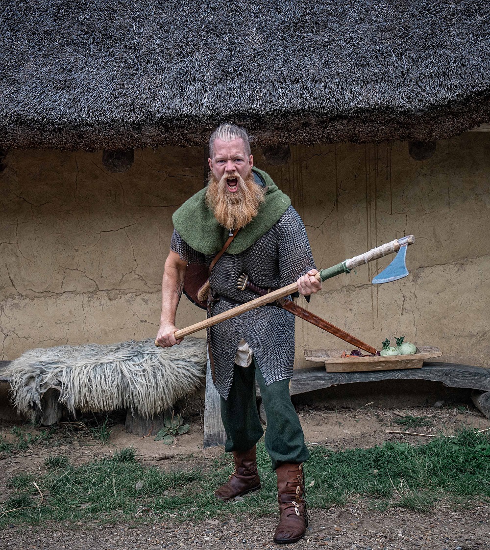
[[[209, 140], [210, 177], [172, 218], [174, 233], [165, 261], [162, 317], [157, 341], [175, 339], [175, 314], [191, 263], [211, 265], [230, 235], [235, 235], [209, 275], [209, 315], [257, 298], [238, 290], [242, 273], [265, 289], [298, 282], [310, 295], [321, 289], [303, 222], [268, 174], [253, 167], [245, 130], [222, 124]], [[294, 316], [276, 305], [241, 313], [208, 329], [213, 381], [221, 396], [226, 452], [235, 472], [215, 496], [231, 500], [260, 488], [255, 444], [263, 435], [255, 402], [255, 380], [267, 415], [265, 448], [277, 474], [280, 520], [274, 541], [296, 542], [308, 516], [303, 462], [309, 458], [303, 430], [289, 396], [293, 376]]]

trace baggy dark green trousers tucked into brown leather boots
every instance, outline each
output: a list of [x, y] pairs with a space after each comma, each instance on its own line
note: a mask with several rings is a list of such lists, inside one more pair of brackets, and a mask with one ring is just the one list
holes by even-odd
[[285, 462], [299, 464], [308, 460], [310, 454], [304, 444], [303, 428], [289, 395], [289, 379], [266, 386], [255, 361], [249, 367], [235, 365], [228, 399], [221, 398], [221, 419], [226, 431], [225, 451], [245, 452], [264, 434], [255, 401], [255, 377], [267, 416], [265, 448], [271, 458], [272, 469]]

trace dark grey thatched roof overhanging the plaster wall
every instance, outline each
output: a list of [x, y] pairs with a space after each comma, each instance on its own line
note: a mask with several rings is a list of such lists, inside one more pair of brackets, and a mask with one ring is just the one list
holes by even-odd
[[488, 0], [4, 0], [0, 147], [431, 141], [490, 120]]

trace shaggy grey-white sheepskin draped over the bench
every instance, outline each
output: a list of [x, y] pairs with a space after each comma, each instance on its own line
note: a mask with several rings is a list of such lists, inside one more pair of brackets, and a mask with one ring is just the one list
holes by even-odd
[[193, 393], [205, 368], [205, 340], [189, 337], [172, 348], [157, 348], [149, 338], [31, 349], [10, 363], [8, 373], [16, 409], [33, 419], [48, 388], [59, 390], [73, 414], [129, 408], [151, 417]]

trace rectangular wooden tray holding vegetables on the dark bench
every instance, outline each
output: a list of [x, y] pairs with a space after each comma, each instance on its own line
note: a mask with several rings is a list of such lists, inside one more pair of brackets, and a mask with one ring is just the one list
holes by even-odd
[[441, 357], [442, 351], [432, 346], [420, 346], [413, 355], [391, 355], [388, 357], [341, 357], [352, 350], [307, 349], [305, 359], [325, 364], [327, 372], [387, 371], [396, 368], [421, 368], [430, 357]]

